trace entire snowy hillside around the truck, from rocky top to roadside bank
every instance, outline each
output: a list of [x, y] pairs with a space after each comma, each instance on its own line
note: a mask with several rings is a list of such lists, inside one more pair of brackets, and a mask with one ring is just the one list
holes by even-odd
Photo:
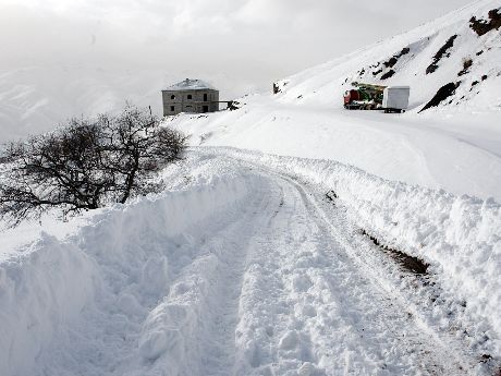
[[[278, 95], [244, 97], [240, 110], [180, 116], [167, 123], [192, 134], [193, 145], [333, 159], [390, 180], [501, 201], [501, 34], [492, 29], [478, 36], [469, 23], [472, 16], [489, 20], [488, 11], [499, 8], [499, 1], [474, 2], [415, 31], [285, 78], [278, 83]], [[436, 61], [451, 35], [457, 35], [453, 46]], [[372, 74], [406, 48], [408, 52], [393, 62], [392, 77], [381, 80], [390, 68]], [[459, 75], [468, 57], [472, 66]], [[433, 61], [438, 68], [427, 74]], [[352, 81], [410, 85], [412, 110], [404, 114], [346, 111], [342, 94]], [[448, 99], [451, 104], [418, 113], [451, 82], [461, 82]], [[474, 82], [478, 83], [472, 86]]]

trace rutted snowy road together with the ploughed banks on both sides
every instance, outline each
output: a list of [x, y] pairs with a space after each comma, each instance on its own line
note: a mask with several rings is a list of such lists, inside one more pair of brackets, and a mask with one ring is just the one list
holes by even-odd
[[498, 204], [236, 149], [192, 150], [166, 177], [164, 193], [4, 257], [7, 375], [488, 375], [499, 362]]

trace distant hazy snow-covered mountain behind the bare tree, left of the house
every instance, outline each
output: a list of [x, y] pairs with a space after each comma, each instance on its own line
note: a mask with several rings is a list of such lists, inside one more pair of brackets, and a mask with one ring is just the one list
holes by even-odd
[[123, 108], [125, 101], [160, 109], [169, 82], [156, 70], [28, 66], [0, 71], [0, 142], [53, 129], [70, 118]]

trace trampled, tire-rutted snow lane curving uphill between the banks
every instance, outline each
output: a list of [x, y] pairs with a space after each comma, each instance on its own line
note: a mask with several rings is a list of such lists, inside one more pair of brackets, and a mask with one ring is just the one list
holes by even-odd
[[466, 362], [428, 338], [404, 302], [353, 259], [300, 183], [260, 170], [286, 192], [285, 205], [255, 240], [237, 374], [466, 374]]

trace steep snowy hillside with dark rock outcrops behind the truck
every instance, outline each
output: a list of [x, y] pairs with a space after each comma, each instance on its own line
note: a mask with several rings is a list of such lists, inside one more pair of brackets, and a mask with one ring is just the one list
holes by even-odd
[[474, 2], [408, 33], [279, 82], [281, 100], [342, 105], [352, 82], [410, 85], [411, 108], [423, 109], [444, 85], [448, 110], [501, 110], [501, 4]]

